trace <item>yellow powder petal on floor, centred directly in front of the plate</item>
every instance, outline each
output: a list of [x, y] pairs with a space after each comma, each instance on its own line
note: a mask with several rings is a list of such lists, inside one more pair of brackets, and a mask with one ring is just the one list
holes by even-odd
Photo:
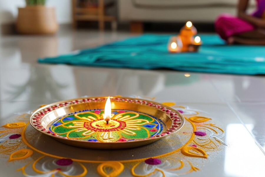
[[97, 166], [97, 172], [103, 177], [116, 177], [123, 169], [123, 164], [117, 161], [107, 161]]

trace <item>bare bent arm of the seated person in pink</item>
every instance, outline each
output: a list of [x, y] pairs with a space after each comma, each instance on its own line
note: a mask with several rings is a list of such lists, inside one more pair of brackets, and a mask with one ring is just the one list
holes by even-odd
[[265, 20], [260, 19], [257, 17], [253, 17], [251, 15], [246, 14], [246, 9], [248, 7], [249, 0], [239, 0], [238, 7], [237, 7], [237, 13], [238, 17], [254, 24], [257, 27], [265, 28]]

